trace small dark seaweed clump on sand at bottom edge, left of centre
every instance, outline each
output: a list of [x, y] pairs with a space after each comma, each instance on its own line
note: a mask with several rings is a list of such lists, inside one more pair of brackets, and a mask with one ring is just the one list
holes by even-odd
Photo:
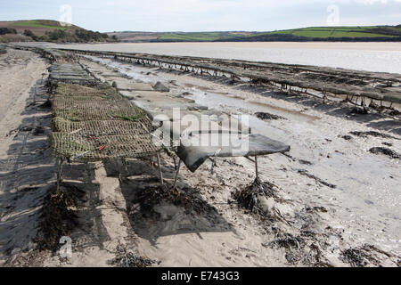
[[110, 260], [110, 265], [116, 267], [149, 267], [156, 261], [143, 256], [136, 256], [122, 245], [116, 248], [116, 257]]

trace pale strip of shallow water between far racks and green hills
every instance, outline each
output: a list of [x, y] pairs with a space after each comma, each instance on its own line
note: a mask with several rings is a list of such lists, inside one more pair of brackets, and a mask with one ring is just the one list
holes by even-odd
[[401, 73], [401, 43], [138, 43], [51, 46], [121, 53], [272, 61]]

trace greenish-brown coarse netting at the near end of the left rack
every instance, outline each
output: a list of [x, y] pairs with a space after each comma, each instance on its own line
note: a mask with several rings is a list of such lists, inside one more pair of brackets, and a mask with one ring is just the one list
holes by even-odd
[[[57, 85], [53, 97], [53, 152], [80, 161], [155, 155], [154, 127], [143, 110], [115, 88]], [[99, 147], [104, 149], [99, 150]]]

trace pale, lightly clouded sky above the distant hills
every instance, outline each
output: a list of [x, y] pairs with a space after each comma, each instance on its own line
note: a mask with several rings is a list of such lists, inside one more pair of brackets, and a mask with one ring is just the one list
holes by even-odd
[[401, 24], [401, 0], [0, 0], [0, 9], [0, 20], [62, 20], [101, 32]]

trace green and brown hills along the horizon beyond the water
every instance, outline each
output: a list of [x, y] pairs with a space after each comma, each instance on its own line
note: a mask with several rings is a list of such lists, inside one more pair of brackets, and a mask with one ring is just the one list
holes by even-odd
[[102, 34], [56, 20], [0, 21], [0, 42], [269, 42], [269, 41], [401, 41], [401, 25], [370, 27], [310, 27], [270, 32], [138, 32]]

